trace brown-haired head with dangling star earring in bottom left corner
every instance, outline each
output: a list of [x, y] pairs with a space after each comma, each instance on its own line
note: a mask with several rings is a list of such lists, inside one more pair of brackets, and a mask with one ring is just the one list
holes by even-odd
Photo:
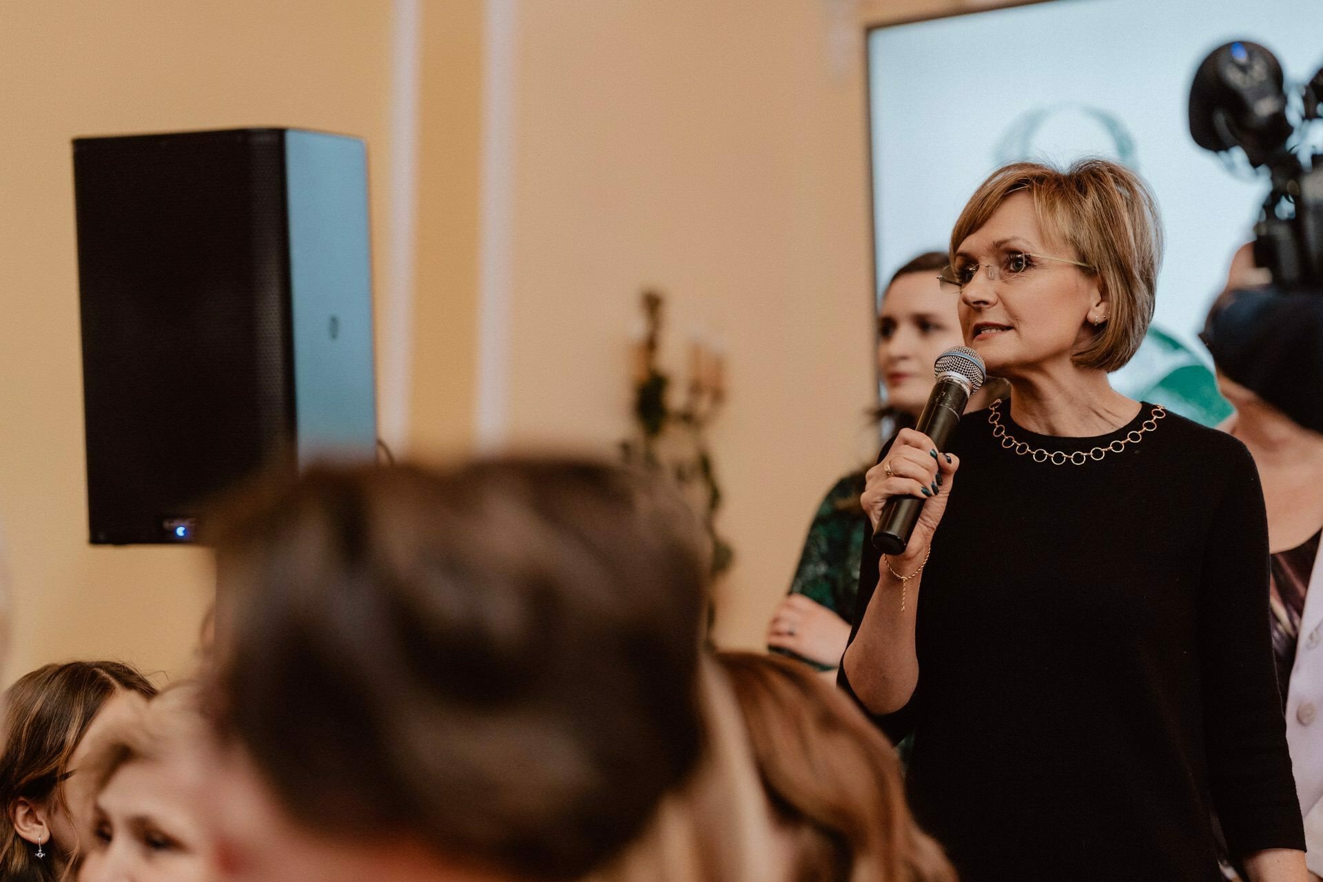
[[45, 665], [9, 688], [0, 752], [0, 879], [65, 877], [91, 803], [87, 752], [130, 696], [155, 693], [138, 670], [116, 661]]

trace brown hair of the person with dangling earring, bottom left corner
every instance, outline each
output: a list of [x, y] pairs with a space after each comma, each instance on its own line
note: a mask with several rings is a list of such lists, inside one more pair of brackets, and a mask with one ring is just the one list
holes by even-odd
[[120, 690], [144, 697], [156, 688], [118, 661], [69, 661], [24, 674], [5, 693], [4, 752], [0, 754], [0, 879], [60, 879], [64, 856], [53, 845], [38, 860], [13, 826], [15, 804], [26, 799], [61, 808], [61, 776], [102, 706]]

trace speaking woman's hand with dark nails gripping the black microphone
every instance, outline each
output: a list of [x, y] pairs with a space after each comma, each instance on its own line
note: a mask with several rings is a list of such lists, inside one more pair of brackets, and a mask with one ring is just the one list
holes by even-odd
[[868, 469], [861, 502], [873, 524], [873, 549], [902, 555], [923, 549], [946, 512], [959, 459], [943, 452], [964, 406], [987, 377], [976, 352], [955, 346], [934, 365], [937, 383], [918, 424], [902, 428], [886, 459]]

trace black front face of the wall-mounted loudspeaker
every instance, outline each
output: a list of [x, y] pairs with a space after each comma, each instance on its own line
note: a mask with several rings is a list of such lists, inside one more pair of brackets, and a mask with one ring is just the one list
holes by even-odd
[[74, 141], [93, 542], [165, 541], [291, 446], [282, 143]]

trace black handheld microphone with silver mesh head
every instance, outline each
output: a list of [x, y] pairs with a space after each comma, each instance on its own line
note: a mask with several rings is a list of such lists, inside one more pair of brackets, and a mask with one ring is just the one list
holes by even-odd
[[[960, 414], [970, 403], [970, 395], [987, 380], [987, 366], [979, 353], [968, 346], [954, 346], [937, 357], [933, 373], [937, 374], [937, 383], [914, 430], [931, 438], [941, 451], [951, 440]], [[905, 550], [925, 501], [914, 496], [893, 496], [886, 500], [877, 529], [873, 530], [873, 549], [878, 554], [900, 554]]]

